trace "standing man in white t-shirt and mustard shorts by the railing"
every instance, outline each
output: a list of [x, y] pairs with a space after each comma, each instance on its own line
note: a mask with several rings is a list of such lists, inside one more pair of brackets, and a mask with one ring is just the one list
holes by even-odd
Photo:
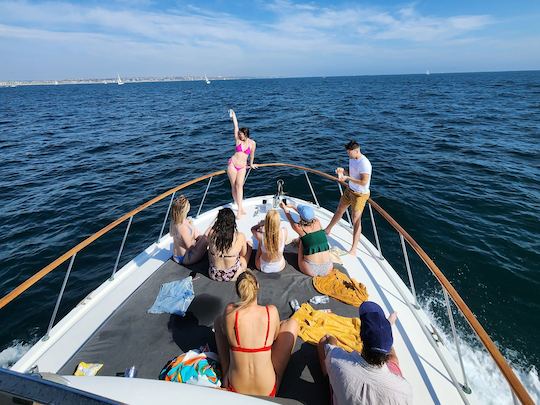
[[371, 182], [371, 163], [367, 157], [360, 153], [360, 145], [356, 141], [351, 141], [345, 145], [349, 155], [349, 171], [342, 167], [336, 169], [338, 178], [341, 181], [349, 181], [349, 185], [339, 200], [339, 205], [334, 217], [326, 227], [326, 234], [330, 235], [334, 225], [343, 217], [349, 207], [352, 208], [353, 221], [353, 241], [349, 253], [356, 256], [356, 246], [362, 233], [362, 212], [369, 198], [369, 183]]

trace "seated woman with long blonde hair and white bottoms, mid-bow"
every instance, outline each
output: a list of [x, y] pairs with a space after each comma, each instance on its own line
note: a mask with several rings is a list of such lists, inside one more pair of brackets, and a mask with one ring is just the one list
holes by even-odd
[[287, 241], [287, 229], [280, 226], [277, 210], [270, 210], [264, 221], [251, 228], [253, 236], [259, 242], [255, 256], [255, 266], [263, 273], [277, 273], [285, 268], [283, 250]]

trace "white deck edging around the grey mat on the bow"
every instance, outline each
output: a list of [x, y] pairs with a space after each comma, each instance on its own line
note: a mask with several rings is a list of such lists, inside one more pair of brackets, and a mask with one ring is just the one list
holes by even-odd
[[[248, 214], [238, 221], [238, 227], [248, 238], [251, 236], [251, 226], [264, 219], [265, 210], [261, 209], [263, 199], [272, 201], [271, 196], [254, 197], [245, 201]], [[313, 207], [325, 226], [333, 213]], [[195, 220], [196, 226], [204, 231], [220, 208], [222, 207], [201, 214]], [[282, 218], [285, 221], [283, 213]], [[295, 238], [297, 235], [290, 226], [285, 222], [284, 225], [289, 229], [289, 240]], [[345, 221], [341, 221], [333, 229], [330, 245], [348, 250], [351, 239], [351, 228]], [[166, 235], [159, 244], [149, 246], [126, 264], [118, 271], [114, 280], [106, 281], [81, 301], [52, 329], [50, 338], [36, 343], [13, 366], [13, 369], [26, 372], [37, 365], [41, 372], [57, 372], [115, 308], [170, 258], [171, 242], [170, 236]], [[398, 322], [393, 330], [394, 347], [403, 375], [413, 387], [414, 403], [462, 403], [463, 399], [458, 389], [452, 383], [448, 371], [432, 346], [433, 338], [426, 337], [422, 330], [421, 323], [428, 330], [432, 328], [428, 317], [422, 310], [414, 309], [405, 302], [403, 296], [408, 302], [413, 302], [412, 295], [388, 262], [377, 258], [376, 248], [365, 237], [362, 237], [357, 257], [345, 255], [342, 256], [342, 261], [349, 274], [366, 285], [370, 300], [381, 305], [387, 314], [394, 311], [398, 313]], [[435, 345], [440, 349], [458, 381], [462, 381], [459, 366], [448, 350], [441, 343]], [[463, 395], [470, 403], [479, 402], [474, 393]]]

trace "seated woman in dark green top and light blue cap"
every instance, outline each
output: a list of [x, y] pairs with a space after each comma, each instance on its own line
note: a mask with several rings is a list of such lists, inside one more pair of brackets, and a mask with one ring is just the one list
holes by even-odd
[[[308, 276], [325, 276], [334, 264], [330, 258], [330, 246], [321, 223], [315, 218], [313, 208], [307, 205], [285, 205], [281, 203], [293, 231], [300, 235], [298, 243], [298, 268]], [[300, 215], [300, 221], [295, 222], [289, 209], [293, 209]]]

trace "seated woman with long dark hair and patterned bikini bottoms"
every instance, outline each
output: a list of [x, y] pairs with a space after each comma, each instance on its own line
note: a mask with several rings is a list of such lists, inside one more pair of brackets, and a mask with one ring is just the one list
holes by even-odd
[[223, 208], [208, 235], [208, 276], [215, 281], [234, 281], [247, 269], [251, 246], [246, 236], [238, 232], [233, 210]]

